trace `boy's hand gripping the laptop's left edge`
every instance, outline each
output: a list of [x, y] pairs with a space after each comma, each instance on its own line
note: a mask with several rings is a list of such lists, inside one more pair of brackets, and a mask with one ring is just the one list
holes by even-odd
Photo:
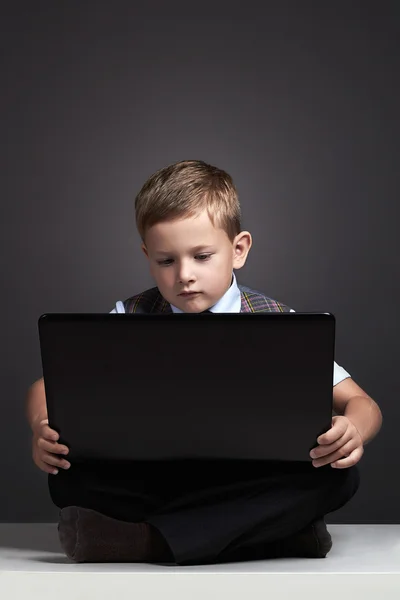
[[33, 427], [32, 457], [33, 462], [45, 473], [56, 475], [57, 468], [68, 469], [71, 464], [57, 456], [57, 454], [68, 454], [67, 446], [58, 444], [57, 431], [50, 429], [48, 419], [43, 419]]

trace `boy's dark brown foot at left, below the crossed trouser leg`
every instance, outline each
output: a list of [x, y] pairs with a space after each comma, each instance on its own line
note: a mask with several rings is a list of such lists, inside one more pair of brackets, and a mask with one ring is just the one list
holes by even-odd
[[87, 508], [63, 508], [58, 535], [62, 549], [74, 562], [174, 562], [156, 528], [118, 521]]

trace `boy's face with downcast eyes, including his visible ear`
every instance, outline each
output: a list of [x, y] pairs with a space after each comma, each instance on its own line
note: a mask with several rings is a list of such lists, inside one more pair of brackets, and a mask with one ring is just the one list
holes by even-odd
[[232, 243], [204, 210], [195, 217], [153, 225], [142, 250], [162, 296], [184, 312], [197, 313], [222, 298], [231, 285], [233, 269], [245, 264], [251, 244], [247, 231]]

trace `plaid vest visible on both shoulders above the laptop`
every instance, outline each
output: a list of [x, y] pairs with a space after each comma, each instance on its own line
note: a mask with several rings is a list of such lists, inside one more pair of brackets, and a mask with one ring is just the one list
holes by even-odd
[[[261, 292], [239, 285], [240, 312], [289, 312], [290, 307], [268, 298]], [[172, 313], [170, 303], [163, 298], [157, 287], [146, 290], [124, 301], [126, 313]]]

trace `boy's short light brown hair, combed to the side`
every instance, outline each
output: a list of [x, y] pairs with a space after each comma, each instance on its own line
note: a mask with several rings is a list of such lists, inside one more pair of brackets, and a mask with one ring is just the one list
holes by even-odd
[[241, 231], [241, 210], [232, 177], [201, 160], [183, 160], [160, 169], [143, 185], [135, 198], [136, 226], [144, 242], [152, 225], [204, 209], [233, 242]]

